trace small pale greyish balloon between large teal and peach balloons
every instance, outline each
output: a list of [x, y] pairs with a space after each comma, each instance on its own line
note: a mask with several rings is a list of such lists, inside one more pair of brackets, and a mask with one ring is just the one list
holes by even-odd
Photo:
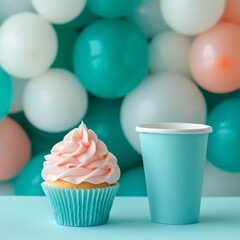
[[190, 38], [173, 31], [156, 35], [149, 45], [149, 65], [153, 73], [169, 71], [190, 75]]

